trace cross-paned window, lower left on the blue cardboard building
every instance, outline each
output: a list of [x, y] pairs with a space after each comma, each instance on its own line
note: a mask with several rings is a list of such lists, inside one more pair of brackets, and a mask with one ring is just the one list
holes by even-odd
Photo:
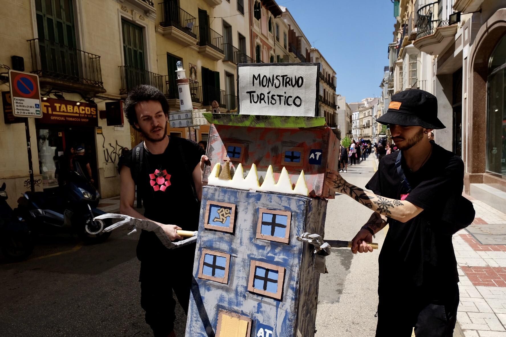
[[229, 265], [230, 254], [203, 249], [198, 278], [227, 284]]

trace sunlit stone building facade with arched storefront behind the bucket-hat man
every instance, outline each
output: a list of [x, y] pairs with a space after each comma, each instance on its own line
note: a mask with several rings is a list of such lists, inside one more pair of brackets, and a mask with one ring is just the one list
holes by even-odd
[[436, 143], [462, 158], [465, 190], [491, 205], [506, 192], [505, 7], [502, 0], [396, 1], [386, 83], [389, 93], [436, 95], [446, 125]]

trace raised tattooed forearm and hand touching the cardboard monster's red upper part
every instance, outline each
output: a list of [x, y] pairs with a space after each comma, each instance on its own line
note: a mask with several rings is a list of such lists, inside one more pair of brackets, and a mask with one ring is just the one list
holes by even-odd
[[400, 222], [409, 221], [423, 211], [422, 208], [408, 201], [377, 196], [372, 192], [352, 185], [343, 179], [338, 172], [327, 173], [325, 183], [331, 190], [346, 194], [374, 212]]

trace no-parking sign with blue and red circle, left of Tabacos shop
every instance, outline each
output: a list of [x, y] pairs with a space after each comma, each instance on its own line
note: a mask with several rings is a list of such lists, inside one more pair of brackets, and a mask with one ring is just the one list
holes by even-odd
[[12, 114], [17, 117], [42, 117], [38, 75], [9, 70]]

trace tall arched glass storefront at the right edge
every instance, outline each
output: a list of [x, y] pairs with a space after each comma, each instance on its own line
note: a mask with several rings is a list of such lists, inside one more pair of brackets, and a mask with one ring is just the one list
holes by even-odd
[[489, 60], [486, 170], [506, 178], [506, 36]]

